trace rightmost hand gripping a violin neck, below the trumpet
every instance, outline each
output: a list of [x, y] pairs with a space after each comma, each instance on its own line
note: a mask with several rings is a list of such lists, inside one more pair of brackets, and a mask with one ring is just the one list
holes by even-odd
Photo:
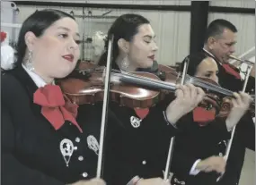
[[252, 97], [247, 93], [234, 93], [232, 101], [232, 109], [228, 114], [225, 124], [227, 130], [232, 130], [234, 125], [237, 124], [243, 115], [249, 110], [249, 106], [252, 103]]

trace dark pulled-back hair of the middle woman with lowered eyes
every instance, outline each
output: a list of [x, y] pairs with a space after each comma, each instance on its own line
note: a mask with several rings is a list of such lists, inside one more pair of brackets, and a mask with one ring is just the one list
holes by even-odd
[[137, 29], [142, 24], [149, 24], [150, 22], [143, 16], [135, 13], [128, 13], [119, 16], [119, 18], [113, 22], [108, 31], [108, 38], [105, 41], [105, 52], [102, 54], [99, 65], [106, 65], [108, 54], [108, 41], [111, 35], [114, 36], [113, 40], [113, 53], [112, 53], [112, 68], [119, 69], [117, 63], [115, 63], [119, 55], [118, 41], [120, 38], [132, 41], [133, 37], [137, 34]]

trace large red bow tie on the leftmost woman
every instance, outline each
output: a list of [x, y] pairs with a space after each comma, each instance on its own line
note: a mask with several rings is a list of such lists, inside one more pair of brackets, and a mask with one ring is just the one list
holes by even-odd
[[69, 121], [75, 124], [80, 132], [83, 132], [75, 121], [78, 105], [72, 104], [67, 98], [65, 101], [59, 86], [46, 85], [38, 88], [34, 93], [34, 103], [41, 105], [41, 114], [56, 130], [60, 129], [65, 121]]

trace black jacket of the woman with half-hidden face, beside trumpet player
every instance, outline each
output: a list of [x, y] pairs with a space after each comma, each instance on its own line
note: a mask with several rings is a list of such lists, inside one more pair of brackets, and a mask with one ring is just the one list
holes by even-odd
[[211, 185], [215, 184], [216, 172], [199, 172], [191, 175], [190, 170], [198, 160], [209, 156], [224, 156], [226, 139], [230, 132], [226, 130], [225, 121], [216, 119], [206, 126], [193, 122], [192, 114], [187, 116], [190, 127], [181, 130], [175, 136], [172, 154], [172, 185]]

